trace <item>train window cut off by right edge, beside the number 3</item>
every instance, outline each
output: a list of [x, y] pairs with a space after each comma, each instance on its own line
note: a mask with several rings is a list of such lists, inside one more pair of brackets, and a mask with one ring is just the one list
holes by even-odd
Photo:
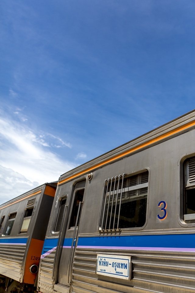
[[195, 157], [184, 164], [184, 221], [195, 223]]

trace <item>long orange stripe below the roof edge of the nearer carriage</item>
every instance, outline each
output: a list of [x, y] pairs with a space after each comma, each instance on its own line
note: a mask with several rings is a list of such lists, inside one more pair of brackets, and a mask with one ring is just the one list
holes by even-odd
[[83, 174], [85, 174], [85, 173], [87, 173], [87, 172], [91, 172], [91, 171], [94, 170], [95, 168], [99, 168], [99, 167], [101, 167], [101, 166], [104, 166], [104, 165], [106, 165], [106, 164], [108, 164], [108, 163], [111, 163], [111, 162], [117, 160], [117, 159], [120, 159], [121, 157], [125, 157], [126, 155], [129, 155], [129, 154], [131, 154], [131, 153], [133, 153], [133, 152], [135, 152], [135, 151], [137, 151], [137, 150], [140, 150], [140, 149], [142, 149], [142, 148], [144, 148], [144, 147], [147, 147], [147, 146], [149, 146], [149, 145], [151, 145], [151, 144], [153, 144], [153, 143], [156, 143], [156, 142], [158, 142], [158, 141], [161, 141], [162, 139], [165, 139], [165, 138], [167, 138], [167, 137], [169, 137], [169, 136], [172, 136], [172, 135], [174, 135], [174, 134], [176, 134], [176, 133], [178, 133], [178, 132], [181, 132], [181, 131], [183, 131], [183, 130], [185, 130], [185, 129], [187, 129], [187, 128], [190, 128], [190, 127], [192, 127], [192, 126], [195, 126], [195, 121], [191, 121], [191, 122], [186, 123], [185, 125], [180, 126], [180, 127], [176, 128], [176, 129], [174, 129], [174, 130], [168, 131], [166, 134], [161, 134], [160, 136], [158, 136], [158, 137], [156, 137], [156, 138], [153, 138], [153, 139], [149, 140], [147, 143], [141, 143], [141, 144], [140, 144], [139, 146], [137, 146], [137, 147], [132, 147], [130, 150], [126, 150], [125, 152], [123, 152], [123, 153], [121, 153], [121, 154], [119, 154], [119, 155], [115, 155], [114, 157], [112, 157], [112, 158], [110, 158], [110, 159], [107, 159], [107, 160], [105, 160], [105, 161], [103, 161], [103, 162], [101, 162], [101, 163], [99, 163], [99, 164], [96, 164], [96, 165], [94, 165], [94, 166], [92, 166], [92, 167], [90, 167], [90, 168], [88, 168], [88, 169], [86, 169], [86, 170], [83, 170], [83, 171], [81, 171], [81, 172], [78, 172], [77, 174], [74, 174], [74, 175], [72, 175], [72, 176], [69, 176], [69, 177], [67, 177], [66, 179], [60, 181], [58, 184], [62, 184], [62, 183], [64, 183], [64, 182], [67, 182], [67, 181], [69, 181], [69, 180], [71, 180], [71, 179], [74, 179], [74, 178], [76, 178], [76, 177], [78, 177], [78, 176], [80, 176], [80, 175], [83, 175]]

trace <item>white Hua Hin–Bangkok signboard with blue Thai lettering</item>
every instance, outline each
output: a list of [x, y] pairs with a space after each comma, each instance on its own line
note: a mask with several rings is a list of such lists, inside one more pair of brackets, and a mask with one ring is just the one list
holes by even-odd
[[97, 255], [98, 275], [130, 280], [131, 256], [124, 255]]

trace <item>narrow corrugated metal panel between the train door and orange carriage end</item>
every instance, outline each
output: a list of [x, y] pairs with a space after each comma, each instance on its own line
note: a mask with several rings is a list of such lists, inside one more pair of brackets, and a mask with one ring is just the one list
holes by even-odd
[[[45, 247], [43, 253], [47, 252], [49, 249], [51, 248]], [[53, 291], [52, 272], [55, 251], [56, 250], [53, 250], [50, 254], [46, 255], [40, 262], [38, 286], [40, 288], [45, 288], [48, 291]]]

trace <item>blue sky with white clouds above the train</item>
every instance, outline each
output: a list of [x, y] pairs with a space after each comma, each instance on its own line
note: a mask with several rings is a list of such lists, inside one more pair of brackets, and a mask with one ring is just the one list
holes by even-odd
[[195, 108], [194, 0], [1, 0], [0, 204]]

